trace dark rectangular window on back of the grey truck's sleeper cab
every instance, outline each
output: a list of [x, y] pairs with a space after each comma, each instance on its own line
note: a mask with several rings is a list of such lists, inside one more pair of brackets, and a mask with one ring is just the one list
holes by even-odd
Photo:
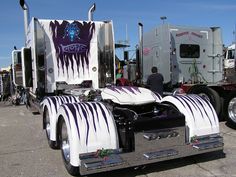
[[196, 44], [181, 44], [179, 53], [181, 58], [199, 58], [200, 46]]

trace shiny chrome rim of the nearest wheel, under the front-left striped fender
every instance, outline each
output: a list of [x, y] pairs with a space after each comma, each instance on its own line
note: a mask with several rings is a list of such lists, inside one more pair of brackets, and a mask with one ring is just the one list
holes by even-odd
[[61, 127], [61, 143], [62, 143], [61, 148], [62, 148], [63, 156], [67, 162], [70, 162], [70, 143], [69, 143], [69, 138], [67, 134], [66, 124], [64, 121]]

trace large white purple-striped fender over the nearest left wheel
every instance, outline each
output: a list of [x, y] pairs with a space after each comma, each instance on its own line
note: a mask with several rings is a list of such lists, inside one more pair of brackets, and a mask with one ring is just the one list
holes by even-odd
[[[70, 143], [70, 164], [81, 165], [81, 153], [117, 149], [119, 140], [112, 113], [99, 102], [68, 103], [60, 106], [57, 119], [64, 119]], [[57, 120], [59, 123], [60, 120]], [[58, 130], [58, 134], [60, 130]]]

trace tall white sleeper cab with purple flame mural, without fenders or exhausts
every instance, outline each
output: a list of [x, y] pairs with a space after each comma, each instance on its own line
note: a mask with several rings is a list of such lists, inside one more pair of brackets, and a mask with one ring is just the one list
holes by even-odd
[[[112, 65], [110, 68], [115, 66], [114, 63], [102, 62], [104, 59], [98, 57], [105, 57], [102, 56], [104, 50], [114, 55], [114, 42], [110, 41], [113, 40], [112, 31], [112, 22], [33, 18], [26, 41], [26, 48], [31, 49], [32, 56], [32, 71], [27, 71], [32, 72], [31, 91], [35, 93], [37, 88], [41, 88], [45, 93], [53, 93], [60, 83], [79, 85], [83, 81], [90, 81], [95, 89], [104, 87], [101, 78], [99, 83], [99, 72], [108, 64]], [[27, 62], [30, 61], [23, 60], [23, 70]], [[23, 85], [27, 86], [25, 74], [23, 72]], [[107, 75], [113, 83], [115, 73]]]

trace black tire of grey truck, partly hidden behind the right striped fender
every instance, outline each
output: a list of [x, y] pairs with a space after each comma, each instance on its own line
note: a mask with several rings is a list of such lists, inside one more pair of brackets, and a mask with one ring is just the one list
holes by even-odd
[[207, 86], [197, 86], [192, 88], [189, 93], [198, 94], [202, 97], [205, 95], [207, 97], [205, 99], [208, 99], [211, 102], [212, 106], [215, 108], [216, 114], [218, 115], [219, 119], [221, 119], [220, 112], [222, 109], [222, 104], [220, 96], [215, 90]]

